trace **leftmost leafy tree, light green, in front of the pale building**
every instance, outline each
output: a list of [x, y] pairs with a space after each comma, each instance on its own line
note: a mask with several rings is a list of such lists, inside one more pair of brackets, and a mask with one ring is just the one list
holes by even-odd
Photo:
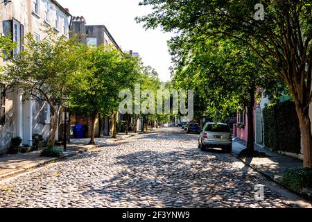
[[26, 94], [49, 103], [52, 126], [48, 144], [54, 145], [64, 96], [80, 86], [83, 62], [75, 39], [51, 31], [46, 34], [40, 42], [31, 34], [26, 36], [25, 50], [10, 58], [4, 78], [10, 87], [21, 87]]

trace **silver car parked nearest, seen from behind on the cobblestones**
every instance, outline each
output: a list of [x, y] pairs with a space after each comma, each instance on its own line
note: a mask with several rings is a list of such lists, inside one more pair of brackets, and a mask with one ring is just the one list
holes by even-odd
[[227, 153], [232, 152], [232, 134], [225, 123], [205, 123], [198, 138], [198, 148], [222, 148]]

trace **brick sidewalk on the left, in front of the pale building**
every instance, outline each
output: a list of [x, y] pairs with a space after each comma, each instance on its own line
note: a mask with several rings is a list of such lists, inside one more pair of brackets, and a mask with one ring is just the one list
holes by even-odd
[[[95, 146], [93, 145], [69, 144], [67, 145], [67, 152], [64, 152], [64, 157], [78, 155], [79, 153], [89, 151], [94, 147]], [[55, 157], [41, 157], [40, 152], [41, 151], [33, 151], [29, 153], [0, 156], [0, 180], [35, 167], [40, 167], [49, 162], [60, 160]]]

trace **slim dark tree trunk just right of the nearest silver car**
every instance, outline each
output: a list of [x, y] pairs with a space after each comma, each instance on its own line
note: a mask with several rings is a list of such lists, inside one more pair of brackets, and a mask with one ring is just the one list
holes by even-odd
[[248, 137], [247, 137], [247, 150], [248, 155], [254, 155], [254, 87], [249, 89], [250, 101], [247, 107], [248, 119]]

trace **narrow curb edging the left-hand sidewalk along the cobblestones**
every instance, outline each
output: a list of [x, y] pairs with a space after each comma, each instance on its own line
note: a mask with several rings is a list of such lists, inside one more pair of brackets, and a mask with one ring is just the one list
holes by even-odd
[[[98, 147], [98, 146], [96, 146], [96, 147]], [[93, 151], [93, 149], [91, 149], [90, 151]], [[40, 160], [39, 162], [37, 162], [37, 163], [35, 163], [29, 167], [23, 167], [21, 169], [17, 169], [16, 171], [12, 171], [10, 173], [1, 174], [0, 180], [4, 180], [4, 179], [7, 179], [7, 178], [10, 178], [13, 176], [17, 176], [18, 174], [26, 173], [26, 172], [31, 171], [33, 169], [44, 167], [47, 164], [50, 164], [53, 162], [60, 162], [61, 160], [67, 159], [68, 157], [73, 157], [73, 156], [80, 155], [82, 153], [90, 152], [90, 151], [83, 151], [83, 150], [73, 151], [71, 153], [64, 154], [64, 157], [53, 157], [50, 160]]]

